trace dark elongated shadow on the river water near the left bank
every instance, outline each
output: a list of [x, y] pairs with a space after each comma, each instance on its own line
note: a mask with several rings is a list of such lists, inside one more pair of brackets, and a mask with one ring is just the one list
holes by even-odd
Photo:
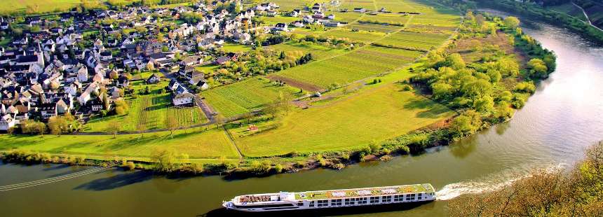
[[141, 183], [153, 179], [153, 172], [137, 171], [117, 174], [109, 178], [96, 179], [88, 183], [84, 183], [74, 188], [74, 190], [111, 190], [129, 186], [135, 183]]

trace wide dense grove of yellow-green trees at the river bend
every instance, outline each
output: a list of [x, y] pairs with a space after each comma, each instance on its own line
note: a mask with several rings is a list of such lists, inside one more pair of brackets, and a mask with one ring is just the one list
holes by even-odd
[[555, 54], [523, 34], [520, 20], [466, 14], [459, 36], [447, 48], [429, 52], [424, 69], [409, 83], [459, 111], [441, 133], [456, 141], [509, 120], [555, 71]]

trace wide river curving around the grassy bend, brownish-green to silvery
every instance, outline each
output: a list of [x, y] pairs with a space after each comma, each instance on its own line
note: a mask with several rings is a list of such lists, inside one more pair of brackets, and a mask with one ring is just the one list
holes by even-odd
[[[452, 146], [367, 162], [341, 171], [226, 181], [219, 176], [170, 179], [109, 169], [34, 188], [0, 192], [2, 216], [211, 216], [222, 200], [246, 193], [432, 183], [440, 201], [370, 216], [445, 216], [446, 200], [501, 186], [531, 169], [571, 167], [603, 139], [603, 48], [567, 30], [524, 27], [558, 56], [557, 71], [524, 109]], [[0, 186], [86, 169], [65, 165], [0, 165]], [[207, 215], [209, 214], [209, 215]], [[369, 215], [369, 214], [365, 214]], [[361, 215], [362, 216], [362, 215]]]

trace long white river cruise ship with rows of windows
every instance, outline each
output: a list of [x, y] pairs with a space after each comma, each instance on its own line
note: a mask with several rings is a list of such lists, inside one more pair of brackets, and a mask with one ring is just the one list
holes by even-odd
[[377, 206], [433, 200], [435, 200], [435, 189], [431, 184], [416, 184], [302, 193], [240, 195], [224, 202], [222, 206], [236, 211], [262, 212]]

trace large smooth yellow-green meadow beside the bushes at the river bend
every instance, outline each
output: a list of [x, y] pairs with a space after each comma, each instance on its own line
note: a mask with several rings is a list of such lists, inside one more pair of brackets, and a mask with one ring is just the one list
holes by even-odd
[[[398, 72], [395, 76], [408, 75]], [[237, 144], [245, 156], [252, 157], [349, 150], [449, 116], [452, 112], [445, 106], [386, 83], [325, 106], [291, 113], [275, 130], [240, 138]]]

